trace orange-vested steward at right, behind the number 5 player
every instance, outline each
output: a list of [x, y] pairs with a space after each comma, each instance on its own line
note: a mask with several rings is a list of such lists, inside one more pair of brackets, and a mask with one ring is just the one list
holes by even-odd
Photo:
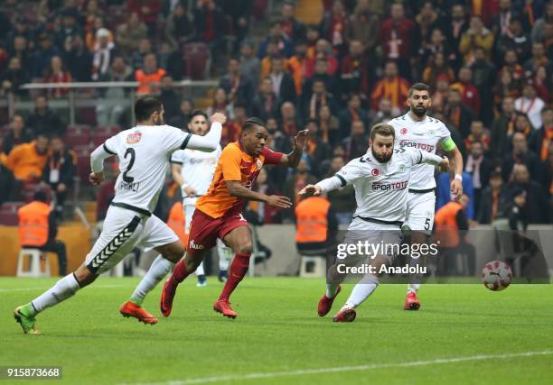
[[463, 195], [458, 202], [449, 202], [440, 208], [435, 215], [435, 240], [440, 249], [441, 270], [445, 274], [456, 274], [455, 256], [459, 253], [469, 258], [469, 274], [474, 274], [475, 250], [474, 246], [466, 243], [464, 237], [469, 228], [465, 209], [468, 206], [469, 197]]

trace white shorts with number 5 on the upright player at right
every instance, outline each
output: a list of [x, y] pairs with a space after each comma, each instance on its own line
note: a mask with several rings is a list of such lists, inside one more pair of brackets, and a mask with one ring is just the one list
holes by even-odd
[[436, 208], [436, 194], [434, 191], [423, 194], [408, 193], [408, 207], [406, 220], [403, 224], [410, 230], [430, 234], [434, 226], [434, 210]]

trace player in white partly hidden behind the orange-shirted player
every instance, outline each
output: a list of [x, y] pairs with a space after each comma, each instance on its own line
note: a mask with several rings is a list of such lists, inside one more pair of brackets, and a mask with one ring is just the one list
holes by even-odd
[[[203, 135], [207, 132], [207, 115], [202, 111], [192, 113], [191, 123], [188, 128], [192, 133]], [[205, 153], [194, 150], [175, 151], [171, 157], [173, 179], [183, 191], [183, 209], [186, 224], [186, 234], [190, 234], [192, 215], [196, 209], [196, 201], [210, 188], [213, 173], [217, 167], [221, 148]], [[219, 254], [219, 280], [227, 280], [227, 269], [232, 259], [232, 250], [219, 238], [217, 239], [217, 253]], [[196, 269], [198, 283], [196, 286], [206, 286], [203, 262]]]

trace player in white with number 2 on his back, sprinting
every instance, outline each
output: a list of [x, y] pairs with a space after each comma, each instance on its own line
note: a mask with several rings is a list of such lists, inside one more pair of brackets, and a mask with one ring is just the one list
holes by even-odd
[[104, 160], [113, 155], [119, 159], [115, 197], [102, 233], [77, 270], [30, 303], [15, 308], [15, 320], [23, 327], [24, 333], [40, 334], [35, 327], [38, 313], [94, 282], [138, 244], [155, 249], [169, 261], [176, 262], [183, 257], [183, 243], [164, 222], [152, 215], [152, 210], [163, 188], [171, 154], [186, 148], [217, 149], [221, 124], [225, 123], [226, 117], [212, 115], [211, 132], [198, 136], [164, 125], [164, 105], [157, 97], [138, 99], [135, 115], [136, 127], [117, 133], [90, 155], [90, 181], [94, 185], [104, 180]]

